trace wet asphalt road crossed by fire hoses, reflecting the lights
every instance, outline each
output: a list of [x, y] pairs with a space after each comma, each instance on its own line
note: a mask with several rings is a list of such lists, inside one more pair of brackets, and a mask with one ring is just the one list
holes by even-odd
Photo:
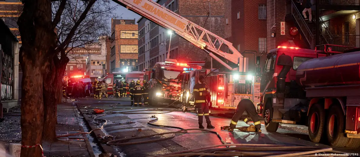
[[[113, 99], [114, 98], [110, 98]], [[101, 103], [121, 103], [121, 106], [116, 108], [130, 108], [130, 99], [122, 98], [121, 100], [125, 101], [105, 101], [102, 100], [80, 100], [79, 103], [84, 103], [87, 105], [78, 104], [80, 108], [87, 106], [102, 106], [100, 108], [105, 109], [105, 111], [114, 110], [110, 107], [110, 104], [101, 104]], [[100, 102], [99, 102], [100, 101]], [[92, 104], [90, 103], [99, 103]], [[151, 106], [150, 106], [151, 107]], [[144, 107], [132, 107], [134, 111], [141, 110]], [[81, 112], [84, 114], [86, 121], [90, 124], [92, 129], [100, 126], [103, 121], [93, 120], [91, 116], [87, 114], [90, 109], [81, 109]], [[117, 111], [119, 112], [119, 111]], [[128, 138], [128, 137], [138, 137], [143, 135], [151, 135], [157, 133], [165, 133], [170, 131], [177, 131], [179, 129], [174, 128], [163, 128], [155, 127], [147, 124], [150, 117], [155, 115], [158, 117], [154, 124], [159, 125], [170, 125], [181, 127], [184, 129], [198, 128], [198, 118], [195, 113], [183, 113], [181, 111], [174, 111], [171, 113], [165, 114], [156, 114], [164, 111], [139, 111], [141, 114], [110, 114], [102, 116], [99, 119], [106, 119], [107, 124], [104, 125], [102, 131], [106, 135], [114, 136], [118, 138]], [[154, 113], [155, 112], [155, 113]], [[307, 127], [301, 125], [291, 125], [291, 124], [281, 124], [277, 132], [266, 132], [264, 122], [262, 121], [261, 130], [262, 133], [247, 133], [247, 132], [228, 132], [227, 130], [220, 130], [221, 126], [229, 125], [232, 115], [218, 115], [210, 116], [212, 125], [215, 126], [215, 129], [212, 129], [220, 134], [220, 136], [225, 140], [225, 138], [231, 138], [232, 143], [249, 143], [249, 144], [284, 144], [287, 146], [314, 146], [314, 147], [329, 147], [323, 144], [310, 142], [309, 135], [307, 134]], [[206, 122], [204, 119], [204, 127], [206, 127]], [[248, 126], [243, 121], [239, 121], [237, 127]], [[138, 129], [141, 129], [139, 132]], [[170, 152], [182, 151], [185, 149], [198, 148], [204, 146], [212, 146], [216, 144], [222, 144], [219, 138], [212, 133], [204, 133], [200, 131], [189, 131], [190, 133], [176, 135], [174, 138], [167, 139], [165, 141], [159, 141], [156, 143], [146, 143], [146, 144], [135, 144], [135, 145], [126, 145], [126, 146], [112, 146], [112, 149], [107, 149], [107, 152], [113, 153], [117, 156], [127, 156], [127, 157], [145, 157], [153, 156], [159, 154], [166, 154]], [[172, 134], [165, 134], [163, 137], [170, 137]], [[147, 139], [136, 139], [130, 142], [144, 141], [148, 139], [159, 139], [159, 137], [152, 137]], [[129, 142], [129, 141], [127, 141]], [[347, 149], [347, 148], [334, 148], [336, 151], [342, 151], [345, 153], [359, 153], [359, 149]]]

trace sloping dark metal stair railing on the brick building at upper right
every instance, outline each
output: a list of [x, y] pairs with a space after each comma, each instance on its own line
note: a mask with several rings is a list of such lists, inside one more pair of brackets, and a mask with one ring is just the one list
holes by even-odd
[[312, 34], [311, 29], [309, 28], [309, 26], [307, 25], [307, 23], [303, 19], [302, 12], [300, 12], [297, 9], [297, 6], [296, 6], [295, 2], [293, 0], [289, 0], [289, 1], [291, 3], [291, 15], [295, 19], [296, 24], [300, 27], [301, 31], [303, 32], [303, 35], [304, 35], [306, 41], [309, 43], [310, 47], [312, 49], [314, 49], [315, 48], [315, 42], [314, 42], [315, 36], [314, 36], [314, 34]]

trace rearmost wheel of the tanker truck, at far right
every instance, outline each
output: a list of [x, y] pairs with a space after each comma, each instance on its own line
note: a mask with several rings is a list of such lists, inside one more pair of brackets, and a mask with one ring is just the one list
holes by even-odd
[[344, 134], [345, 118], [339, 105], [330, 108], [327, 119], [327, 137], [330, 146], [345, 147], [348, 138]]

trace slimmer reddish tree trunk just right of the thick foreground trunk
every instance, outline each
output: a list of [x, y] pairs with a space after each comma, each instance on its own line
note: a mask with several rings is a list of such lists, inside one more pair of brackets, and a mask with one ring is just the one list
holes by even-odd
[[[57, 56], [55, 56], [57, 57]], [[67, 58], [67, 57], [66, 57]], [[47, 68], [47, 75], [44, 76], [44, 129], [42, 130], [42, 140], [48, 142], [57, 141], [57, 100], [60, 99], [58, 92], [62, 91], [62, 78], [65, 72], [68, 59], [58, 63], [58, 58], [54, 58]]]

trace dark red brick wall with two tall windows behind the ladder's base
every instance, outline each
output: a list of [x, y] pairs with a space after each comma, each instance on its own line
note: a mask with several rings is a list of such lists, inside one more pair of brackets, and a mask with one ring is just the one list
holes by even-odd
[[[225, 39], [248, 58], [248, 70], [255, 72], [255, 56], [266, 54], [266, 0], [224, 0]], [[256, 52], [253, 52], [256, 51]], [[262, 55], [265, 61], [265, 55]], [[263, 65], [263, 63], [261, 64]]]

